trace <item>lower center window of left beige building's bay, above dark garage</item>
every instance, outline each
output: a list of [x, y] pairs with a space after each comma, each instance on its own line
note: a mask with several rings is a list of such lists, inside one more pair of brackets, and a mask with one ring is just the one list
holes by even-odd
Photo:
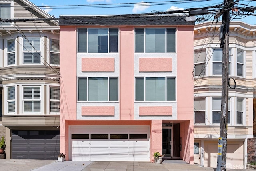
[[41, 111], [40, 87], [23, 87], [23, 111]]

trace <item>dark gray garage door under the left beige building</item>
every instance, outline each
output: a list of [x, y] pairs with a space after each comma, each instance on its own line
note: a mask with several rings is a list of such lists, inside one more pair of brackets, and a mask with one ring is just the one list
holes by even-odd
[[12, 131], [12, 159], [56, 160], [60, 131]]

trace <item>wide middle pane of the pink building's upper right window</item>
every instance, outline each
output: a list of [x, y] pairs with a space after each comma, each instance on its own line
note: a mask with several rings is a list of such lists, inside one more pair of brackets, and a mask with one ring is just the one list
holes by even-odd
[[164, 53], [165, 52], [165, 29], [146, 28], [146, 53]]

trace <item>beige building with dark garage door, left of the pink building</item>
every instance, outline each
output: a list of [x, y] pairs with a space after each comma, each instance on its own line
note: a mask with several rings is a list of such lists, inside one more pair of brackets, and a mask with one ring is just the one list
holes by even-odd
[[[0, 0], [1, 127], [6, 158], [57, 159], [60, 152], [59, 26], [28, 0]], [[2, 134], [2, 136], [4, 136]]]

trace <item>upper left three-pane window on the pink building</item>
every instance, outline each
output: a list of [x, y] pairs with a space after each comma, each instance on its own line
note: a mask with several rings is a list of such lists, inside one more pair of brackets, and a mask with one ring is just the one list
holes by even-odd
[[118, 52], [118, 28], [78, 28], [77, 32], [78, 52]]

